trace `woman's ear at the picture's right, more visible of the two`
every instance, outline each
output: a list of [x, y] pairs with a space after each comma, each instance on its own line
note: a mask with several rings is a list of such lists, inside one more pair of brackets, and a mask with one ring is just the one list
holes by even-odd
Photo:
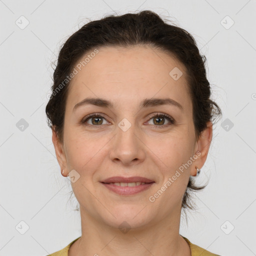
[[200, 155], [197, 153], [198, 157], [194, 161], [194, 165], [190, 170], [191, 176], [196, 176], [196, 173], [197, 173], [196, 167], [200, 169], [203, 166], [204, 162], [206, 161], [211, 139], [212, 139], [212, 122], [208, 121], [207, 127], [200, 133], [199, 138], [196, 142], [197, 149], [195, 148], [196, 150], [194, 154], [196, 154], [196, 151], [199, 151]]

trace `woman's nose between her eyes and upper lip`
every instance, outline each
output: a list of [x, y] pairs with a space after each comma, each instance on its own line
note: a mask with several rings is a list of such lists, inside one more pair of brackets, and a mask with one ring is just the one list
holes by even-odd
[[[122, 125], [123, 124], [123, 125]], [[128, 126], [129, 127], [128, 127]], [[134, 123], [120, 122], [110, 146], [110, 159], [123, 165], [138, 164], [145, 159], [146, 146]]]

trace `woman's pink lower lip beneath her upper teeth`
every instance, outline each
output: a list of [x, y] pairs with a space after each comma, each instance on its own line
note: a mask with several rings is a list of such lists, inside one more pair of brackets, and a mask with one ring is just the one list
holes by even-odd
[[109, 190], [121, 194], [121, 195], [132, 195], [136, 194], [138, 192], [144, 191], [145, 189], [148, 189], [154, 182], [151, 183], [145, 183], [145, 184], [140, 184], [138, 186], [117, 186], [114, 184], [109, 184], [109, 183], [102, 183], [106, 188]]

